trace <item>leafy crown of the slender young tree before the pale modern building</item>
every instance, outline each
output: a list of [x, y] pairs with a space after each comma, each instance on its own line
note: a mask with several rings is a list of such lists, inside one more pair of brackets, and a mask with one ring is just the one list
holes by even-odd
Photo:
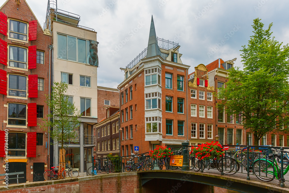
[[[44, 124], [40, 127], [50, 133], [55, 144], [61, 143], [61, 149], [67, 141], [76, 141], [77, 133], [75, 128], [79, 126], [81, 117], [79, 111], [68, 101], [68, 97], [64, 95], [67, 90], [67, 84], [63, 82], [54, 82], [52, 87], [51, 98], [46, 96], [47, 105], [52, 110], [47, 117], [43, 118]], [[51, 121], [53, 120], [53, 121]], [[53, 130], [50, 130], [53, 128]]]

